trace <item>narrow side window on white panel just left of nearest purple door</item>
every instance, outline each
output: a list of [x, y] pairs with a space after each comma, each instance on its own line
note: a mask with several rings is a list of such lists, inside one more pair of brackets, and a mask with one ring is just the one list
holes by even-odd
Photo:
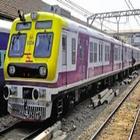
[[72, 64], [76, 63], [76, 39], [72, 38]]

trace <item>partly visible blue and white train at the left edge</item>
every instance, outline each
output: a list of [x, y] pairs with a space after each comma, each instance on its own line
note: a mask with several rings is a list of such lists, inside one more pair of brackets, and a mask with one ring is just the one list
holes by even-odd
[[0, 115], [7, 112], [6, 111], [7, 103], [3, 98], [3, 87], [4, 87], [3, 65], [11, 25], [12, 23], [10, 21], [0, 20]]

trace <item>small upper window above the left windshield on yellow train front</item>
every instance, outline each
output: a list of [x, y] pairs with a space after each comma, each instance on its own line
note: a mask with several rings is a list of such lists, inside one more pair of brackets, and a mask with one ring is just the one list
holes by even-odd
[[17, 25], [16, 25], [17, 31], [29, 30], [29, 29], [31, 29], [31, 22], [17, 23]]

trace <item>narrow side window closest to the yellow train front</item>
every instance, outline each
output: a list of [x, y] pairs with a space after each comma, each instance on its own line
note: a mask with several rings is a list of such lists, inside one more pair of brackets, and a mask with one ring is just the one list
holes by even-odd
[[62, 65], [67, 64], [67, 36], [62, 36]]

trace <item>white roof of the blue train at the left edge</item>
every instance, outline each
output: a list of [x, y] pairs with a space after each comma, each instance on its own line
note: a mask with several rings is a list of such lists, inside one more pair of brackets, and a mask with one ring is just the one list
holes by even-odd
[[9, 33], [11, 26], [12, 26], [12, 22], [0, 19], [0, 32]]

